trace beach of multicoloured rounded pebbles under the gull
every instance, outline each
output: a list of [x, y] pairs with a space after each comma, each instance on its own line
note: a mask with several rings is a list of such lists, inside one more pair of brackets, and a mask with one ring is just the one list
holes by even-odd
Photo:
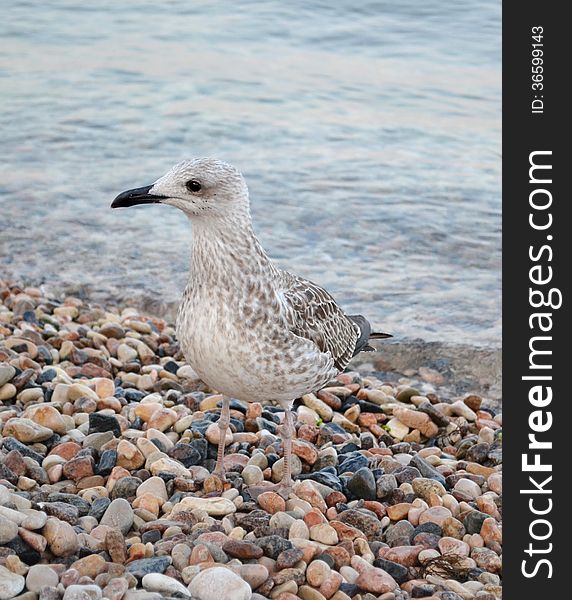
[[[382, 354], [382, 352], [378, 353]], [[495, 600], [502, 415], [430, 367], [222, 397], [174, 326], [0, 280], [0, 600]]]

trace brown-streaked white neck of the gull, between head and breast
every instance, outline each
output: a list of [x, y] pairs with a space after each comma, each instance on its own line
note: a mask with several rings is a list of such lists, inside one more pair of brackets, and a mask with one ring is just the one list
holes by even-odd
[[278, 271], [254, 235], [249, 214], [193, 219], [190, 283], [237, 285]]

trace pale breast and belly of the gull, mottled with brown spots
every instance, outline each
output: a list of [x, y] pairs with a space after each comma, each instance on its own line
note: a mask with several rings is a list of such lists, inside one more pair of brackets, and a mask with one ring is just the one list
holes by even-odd
[[177, 317], [183, 354], [207, 385], [247, 401], [281, 401], [335, 374], [331, 359], [291, 334], [277, 301], [229, 292], [186, 292]]

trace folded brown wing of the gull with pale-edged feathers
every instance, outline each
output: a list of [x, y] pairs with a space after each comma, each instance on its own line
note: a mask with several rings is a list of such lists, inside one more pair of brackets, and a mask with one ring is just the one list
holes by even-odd
[[343, 371], [356, 349], [358, 327], [323, 288], [294, 275], [282, 273], [282, 290], [288, 328], [329, 352]]

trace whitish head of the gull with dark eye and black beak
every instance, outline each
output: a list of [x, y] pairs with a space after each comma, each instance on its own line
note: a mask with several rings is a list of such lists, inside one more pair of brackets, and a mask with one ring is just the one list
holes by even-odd
[[208, 218], [248, 212], [248, 188], [232, 165], [214, 158], [176, 164], [151, 185], [122, 192], [111, 208], [169, 204], [189, 217]]

